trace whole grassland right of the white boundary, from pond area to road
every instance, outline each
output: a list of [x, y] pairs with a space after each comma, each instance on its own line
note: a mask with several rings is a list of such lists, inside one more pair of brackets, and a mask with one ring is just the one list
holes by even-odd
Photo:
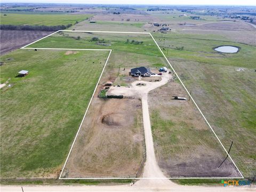
[[[226, 149], [245, 177], [253, 177], [255, 148], [255, 46], [215, 34], [154, 34], [174, 69], [192, 91]], [[170, 45], [170, 46], [169, 46]], [[238, 53], [218, 53], [219, 45], [239, 46]], [[182, 47], [176, 50], [175, 47]], [[243, 68], [244, 71], [238, 71]]]

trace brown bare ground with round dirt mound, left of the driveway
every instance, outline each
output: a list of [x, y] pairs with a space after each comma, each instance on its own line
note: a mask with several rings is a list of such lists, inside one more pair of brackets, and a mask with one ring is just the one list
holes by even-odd
[[138, 99], [93, 98], [62, 177], [135, 177], [142, 162]]

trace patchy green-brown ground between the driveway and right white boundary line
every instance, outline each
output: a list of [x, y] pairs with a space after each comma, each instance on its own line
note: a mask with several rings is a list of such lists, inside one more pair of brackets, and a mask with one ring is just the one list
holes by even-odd
[[169, 177], [239, 177], [210, 128], [179, 83], [149, 93], [150, 121], [158, 165]]

